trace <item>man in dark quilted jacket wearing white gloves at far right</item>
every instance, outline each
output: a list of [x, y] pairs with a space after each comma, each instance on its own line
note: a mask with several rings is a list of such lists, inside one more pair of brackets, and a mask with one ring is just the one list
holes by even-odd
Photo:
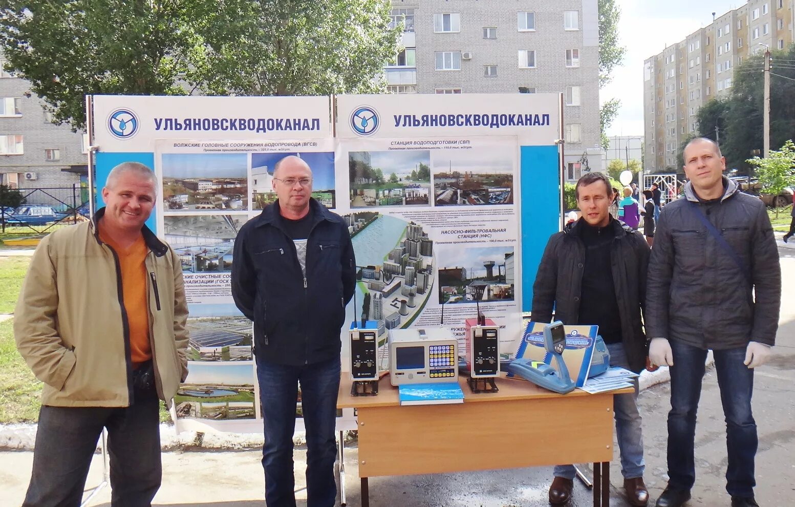
[[714, 141], [688, 142], [684, 163], [690, 181], [657, 226], [646, 298], [651, 361], [671, 372], [669, 482], [657, 506], [679, 507], [696, 481], [693, 439], [708, 349], [726, 416], [726, 489], [732, 507], [754, 506], [753, 369], [767, 361], [778, 330], [778, 250], [765, 205], [723, 177], [726, 160]]

